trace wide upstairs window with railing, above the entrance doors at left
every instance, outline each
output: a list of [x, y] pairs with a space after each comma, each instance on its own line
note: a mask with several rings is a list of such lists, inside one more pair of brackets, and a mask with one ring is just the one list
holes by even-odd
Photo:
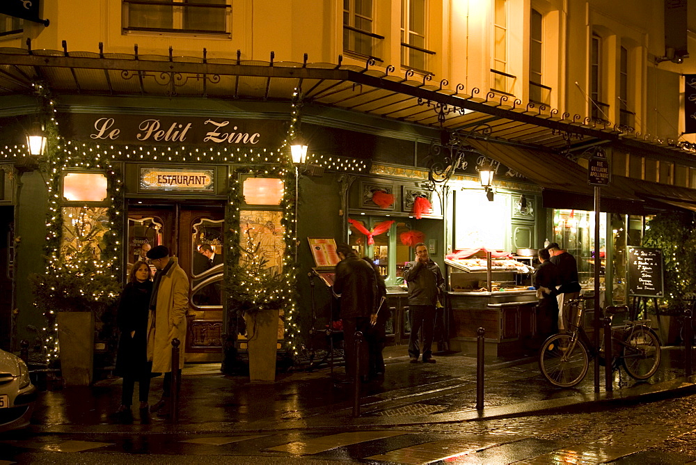
[[227, 0], [122, 0], [124, 31], [229, 34]]

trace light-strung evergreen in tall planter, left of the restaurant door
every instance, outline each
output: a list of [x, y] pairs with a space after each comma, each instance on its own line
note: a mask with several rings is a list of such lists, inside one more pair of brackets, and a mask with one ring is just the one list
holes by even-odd
[[89, 237], [47, 257], [46, 271], [29, 276], [35, 306], [49, 328], [57, 328], [61, 372], [66, 386], [87, 386], [93, 378], [95, 324], [116, 301], [120, 283]]

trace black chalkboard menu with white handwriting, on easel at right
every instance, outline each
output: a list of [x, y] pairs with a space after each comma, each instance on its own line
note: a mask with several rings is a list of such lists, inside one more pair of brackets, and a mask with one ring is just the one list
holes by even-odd
[[628, 295], [663, 297], [662, 251], [628, 247]]

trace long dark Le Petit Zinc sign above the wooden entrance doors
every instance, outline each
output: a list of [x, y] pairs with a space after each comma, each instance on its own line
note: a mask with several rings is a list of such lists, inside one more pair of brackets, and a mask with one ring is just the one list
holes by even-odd
[[278, 147], [287, 133], [282, 121], [246, 118], [84, 113], [68, 118], [70, 136], [102, 143]]

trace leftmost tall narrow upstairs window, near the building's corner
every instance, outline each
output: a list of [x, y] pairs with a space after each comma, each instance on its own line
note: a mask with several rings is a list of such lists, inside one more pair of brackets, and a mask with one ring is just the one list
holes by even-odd
[[373, 25], [372, 0], [343, 0], [343, 49], [377, 58], [374, 40], [384, 37], [372, 32]]

